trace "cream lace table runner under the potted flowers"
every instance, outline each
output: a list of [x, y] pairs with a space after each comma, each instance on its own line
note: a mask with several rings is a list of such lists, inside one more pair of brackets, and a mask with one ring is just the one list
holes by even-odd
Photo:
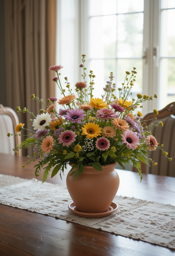
[[175, 206], [122, 196], [113, 201], [119, 209], [112, 215], [84, 218], [69, 211], [66, 187], [0, 175], [1, 204], [175, 249]]

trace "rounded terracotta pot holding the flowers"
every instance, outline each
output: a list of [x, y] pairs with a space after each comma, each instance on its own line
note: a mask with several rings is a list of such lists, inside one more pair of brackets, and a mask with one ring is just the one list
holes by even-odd
[[108, 210], [120, 183], [119, 175], [114, 170], [116, 164], [102, 166], [102, 171], [85, 166], [84, 172], [74, 181], [71, 172], [67, 174], [67, 189], [79, 211], [99, 213]]

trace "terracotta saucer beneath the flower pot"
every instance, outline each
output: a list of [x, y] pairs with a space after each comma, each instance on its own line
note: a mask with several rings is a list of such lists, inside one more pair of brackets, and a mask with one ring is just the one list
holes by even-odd
[[108, 216], [108, 215], [112, 214], [114, 211], [118, 210], [119, 206], [117, 204], [115, 204], [114, 202], [112, 202], [107, 211], [100, 212], [100, 213], [87, 213], [87, 212], [78, 211], [74, 202], [69, 204], [68, 208], [70, 211], [72, 211], [73, 213], [75, 213], [76, 215], [81, 216], [81, 217], [99, 218], [99, 217], [104, 217], [104, 216]]

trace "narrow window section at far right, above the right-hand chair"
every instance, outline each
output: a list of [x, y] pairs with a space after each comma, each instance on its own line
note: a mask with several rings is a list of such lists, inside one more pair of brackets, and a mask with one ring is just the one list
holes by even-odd
[[160, 6], [160, 108], [175, 101], [175, 1]]

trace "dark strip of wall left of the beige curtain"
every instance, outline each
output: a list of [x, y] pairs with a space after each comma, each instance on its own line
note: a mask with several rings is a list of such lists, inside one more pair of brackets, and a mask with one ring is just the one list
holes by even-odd
[[0, 1], [0, 104], [7, 106], [5, 69], [4, 0]]

